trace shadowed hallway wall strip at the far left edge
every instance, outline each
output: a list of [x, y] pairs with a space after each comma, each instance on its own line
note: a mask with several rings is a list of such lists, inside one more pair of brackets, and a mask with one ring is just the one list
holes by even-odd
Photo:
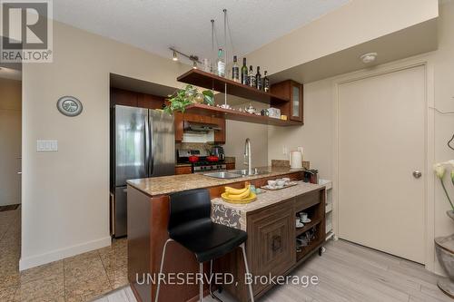
[[0, 78], [0, 206], [21, 203], [22, 84]]

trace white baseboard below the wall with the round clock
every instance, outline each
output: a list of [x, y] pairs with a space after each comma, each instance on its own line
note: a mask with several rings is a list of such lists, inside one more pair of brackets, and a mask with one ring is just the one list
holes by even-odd
[[36, 255], [28, 258], [21, 258], [19, 260], [19, 270], [35, 268], [46, 263], [50, 263], [63, 258], [72, 257], [97, 248], [108, 247], [111, 245], [111, 241], [112, 239], [109, 236], [103, 239], [97, 239], [93, 241], [84, 242], [82, 244], [77, 244], [69, 248], [56, 249], [45, 254]]

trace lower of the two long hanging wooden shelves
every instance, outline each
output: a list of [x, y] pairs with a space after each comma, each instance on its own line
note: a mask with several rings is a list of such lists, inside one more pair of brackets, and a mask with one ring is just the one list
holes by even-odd
[[288, 120], [284, 121], [280, 119], [274, 119], [268, 116], [256, 115], [248, 112], [238, 112], [232, 109], [224, 109], [220, 107], [197, 103], [187, 106], [184, 112], [208, 115], [226, 120], [262, 123], [265, 125], [273, 126], [301, 126], [301, 122], [294, 122]]

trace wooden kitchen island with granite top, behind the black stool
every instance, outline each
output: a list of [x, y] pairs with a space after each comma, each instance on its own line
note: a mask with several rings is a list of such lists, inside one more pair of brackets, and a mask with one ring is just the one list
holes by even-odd
[[[165, 176], [153, 179], [128, 180], [128, 278], [139, 301], [153, 301], [156, 284], [142, 284], [143, 274], [157, 274], [163, 245], [168, 239], [169, 194], [206, 188], [212, 198], [212, 219], [232, 228], [248, 232], [246, 254], [254, 276], [285, 276], [324, 242], [325, 188], [322, 185], [299, 183], [288, 189], [259, 194], [247, 205], [233, 205], [220, 199], [225, 185], [242, 188], [244, 181], [260, 187], [267, 180], [288, 177], [302, 179], [302, 170], [265, 167], [268, 173], [232, 180], [214, 179], [202, 174]], [[311, 222], [301, 229], [295, 227], [297, 213], [304, 210]], [[311, 232], [306, 245], [296, 248], [298, 237]], [[191, 252], [176, 243], [167, 248], [164, 273], [196, 273], [198, 263]], [[209, 268], [209, 265], [205, 265]], [[241, 251], [216, 260], [216, 272], [230, 273], [237, 284], [222, 287], [240, 301], [247, 301], [244, 264]], [[139, 279], [137, 279], [139, 277]], [[272, 285], [254, 284], [254, 297], [262, 296]], [[205, 291], [205, 294], [207, 290]], [[198, 286], [162, 285], [161, 301], [187, 301], [198, 298]]]

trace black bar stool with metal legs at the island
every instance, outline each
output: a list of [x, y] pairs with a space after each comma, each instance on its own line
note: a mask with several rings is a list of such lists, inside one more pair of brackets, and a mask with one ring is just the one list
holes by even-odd
[[[213, 223], [211, 219], [212, 202], [206, 189], [185, 190], [170, 196], [169, 239], [164, 244], [161, 258], [160, 274], [163, 273], [165, 248], [171, 241], [180, 243], [195, 254], [203, 274], [203, 262], [220, 258], [234, 248], [242, 248], [242, 257], [246, 273], [249, 274], [248, 261], [244, 242], [248, 234], [241, 229], [233, 229]], [[202, 275], [203, 276], [203, 275]], [[159, 297], [159, 278], [155, 302]], [[200, 282], [200, 301], [203, 298], [203, 282]], [[211, 290], [210, 290], [211, 291]], [[249, 284], [249, 295], [253, 302], [252, 285]]]

